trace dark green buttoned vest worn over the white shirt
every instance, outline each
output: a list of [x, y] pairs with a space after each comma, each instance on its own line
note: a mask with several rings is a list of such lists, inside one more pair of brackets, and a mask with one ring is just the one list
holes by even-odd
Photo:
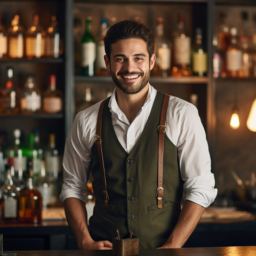
[[163, 209], [158, 209], [157, 159], [158, 130], [164, 94], [157, 92], [153, 108], [137, 144], [128, 154], [119, 143], [112, 124], [108, 102], [102, 115], [102, 154], [106, 171], [109, 202], [103, 208], [101, 172], [95, 144], [92, 147], [91, 172], [96, 198], [89, 225], [94, 241], [128, 237], [132, 231], [140, 239], [141, 249], [162, 246], [180, 214], [183, 181], [180, 177], [177, 147], [164, 139]]

